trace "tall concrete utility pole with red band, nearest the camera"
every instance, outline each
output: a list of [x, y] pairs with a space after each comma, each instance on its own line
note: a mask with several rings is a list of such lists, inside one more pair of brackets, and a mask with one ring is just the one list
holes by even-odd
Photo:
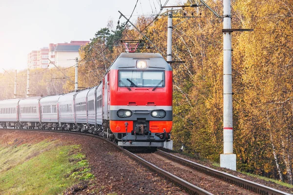
[[[231, 29], [231, 1], [223, 0], [223, 29]], [[236, 170], [236, 155], [233, 154], [233, 106], [232, 106], [232, 31], [223, 31], [223, 136], [224, 154], [220, 166]]]

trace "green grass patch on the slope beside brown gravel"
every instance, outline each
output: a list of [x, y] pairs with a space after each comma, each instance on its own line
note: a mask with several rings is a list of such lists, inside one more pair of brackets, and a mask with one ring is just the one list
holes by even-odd
[[79, 147], [56, 142], [0, 147], [0, 194], [60, 194], [93, 178]]

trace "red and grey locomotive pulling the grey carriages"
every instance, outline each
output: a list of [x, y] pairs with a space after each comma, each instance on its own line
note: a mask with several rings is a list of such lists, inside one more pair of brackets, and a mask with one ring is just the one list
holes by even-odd
[[103, 79], [103, 126], [120, 146], [163, 147], [172, 128], [172, 68], [160, 54], [122, 53]]

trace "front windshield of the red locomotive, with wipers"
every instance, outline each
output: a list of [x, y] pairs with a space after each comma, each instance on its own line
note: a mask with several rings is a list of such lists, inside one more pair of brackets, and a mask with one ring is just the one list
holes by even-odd
[[119, 71], [119, 87], [164, 87], [164, 71]]

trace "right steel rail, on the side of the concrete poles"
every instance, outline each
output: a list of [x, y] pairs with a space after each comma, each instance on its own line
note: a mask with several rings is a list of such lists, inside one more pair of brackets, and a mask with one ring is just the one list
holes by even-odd
[[219, 178], [221, 180], [224, 180], [226, 182], [229, 182], [231, 184], [237, 185], [237, 186], [239, 186], [241, 188], [245, 188], [247, 190], [250, 190], [252, 192], [255, 192], [255, 193], [258, 193], [258, 194], [261, 194], [261, 195], [291, 195], [291, 194], [282, 192], [280, 190], [276, 190], [276, 189], [270, 188], [268, 186], [255, 183], [253, 181], [249, 181], [249, 180], [237, 177], [237, 176], [227, 174], [225, 172], [221, 172], [221, 171], [218, 171], [218, 170], [215, 170], [215, 169], [211, 169], [211, 168], [209, 168], [207, 166], [195, 163], [193, 161], [181, 158], [179, 156], [171, 155], [171, 154], [169, 154], [167, 152], [164, 152], [164, 151], [161, 151], [161, 150], [157, 150], [157, 152], [161, 156], [165, 156], [165, 157], [167, 157], [169, 159], [175, 160], [175, 161], [177, 161], [177, 162], [179, 162], [181, 164], [184, 164], [184, 165], [186, 165], [186, 166], [188, 166], [188, 167], [190, 167], [192, 169], [195, 169], [196, 171], [202, 172], [202, 173], [204, 173], [206, 175], [209, 175], [209, 176]]

